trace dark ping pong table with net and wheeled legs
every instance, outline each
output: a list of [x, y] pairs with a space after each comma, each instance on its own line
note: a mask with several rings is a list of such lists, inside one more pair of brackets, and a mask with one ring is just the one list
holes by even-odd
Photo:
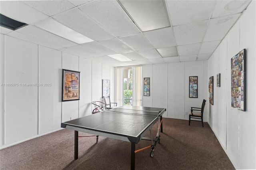
[[[154, 107], [121, 106], [107, 111], [94, 113], [61, 123], [62, 128], [74, 130], [74, 159], [78, 159], [78, 131], [131, 142], [131, 169], [135, 169], [135, 153], [151, 147], [150, 156], [154, 156], [154, 147], [160, 142], [159, 129], [162, 131], [162, 115], [166, 109]], [[151, 129], [157, 123], [156, 138]], [[150, 138], [144, 135], [150, 131]], [[151, 140], [151, 145], [135, 150], [135, 144], [141, 139]], [[98, 142], [98, 138], [97, 138]]]

